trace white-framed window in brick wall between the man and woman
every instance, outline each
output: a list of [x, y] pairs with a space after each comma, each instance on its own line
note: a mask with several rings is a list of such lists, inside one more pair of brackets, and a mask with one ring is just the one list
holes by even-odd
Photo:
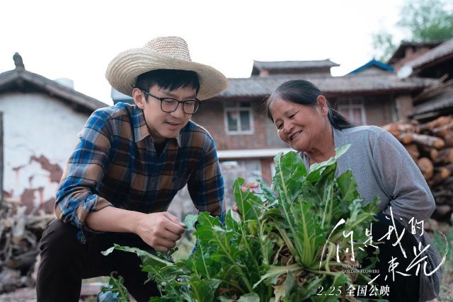
[[249, 102], [225, 103], [227, 134], [253, 134], [253, 117]]

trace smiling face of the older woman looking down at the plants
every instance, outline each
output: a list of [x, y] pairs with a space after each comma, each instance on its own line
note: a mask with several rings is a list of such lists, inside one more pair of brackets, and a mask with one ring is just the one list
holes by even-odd
[[322, 95], [318, 105], [300, 105], [277, 97], [270, 108], [278, 137], [297, 151], [319, 149], [328, 135], [327, 101]]

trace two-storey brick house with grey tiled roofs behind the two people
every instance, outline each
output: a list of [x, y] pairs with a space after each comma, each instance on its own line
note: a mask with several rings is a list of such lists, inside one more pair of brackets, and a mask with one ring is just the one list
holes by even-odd
[[[277, 137], [275, 126], [263, 110], [264, 100], [277, 86], [291, 79], [306, 79], [318, 86], [332, 108], [355, 124], [384, 125], [406, 119], [413, 95], [435, 81], [420, 77], [400, 79], [393, 69], [370, 62], [351, 74], [331, 76], [338, 64], [321, 61], [254, 62], [251, 76], [229, 79], [229, 88], [201, 103], [192, 120], [205, 127], [217, 146], [226, 192], [236, 178], [270, 184], [273, 158], [291, 149]], [[113, 102], [132, 99], [112, 91]]]

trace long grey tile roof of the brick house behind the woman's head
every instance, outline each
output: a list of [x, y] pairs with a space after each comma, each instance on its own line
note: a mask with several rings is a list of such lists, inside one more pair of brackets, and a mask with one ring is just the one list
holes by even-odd
[[263, 97], [269, 95], [280, 84], [292, 79], [305, 79], [326, 94], [348, 93], [407, 93], [422, 90], [436, 83], [435, 79], [408, 78], [398, 79], [396, 74], [361, 76], [251, 76], [244, 79], [229, 79], [229, 87], [214, 98]]

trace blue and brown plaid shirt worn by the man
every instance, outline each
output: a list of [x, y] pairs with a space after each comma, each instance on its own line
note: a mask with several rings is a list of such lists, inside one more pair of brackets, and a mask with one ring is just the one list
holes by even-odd
[[86, 216], [108, 206], [166, 211], [186, 184], [199, 211], [223, 220], [224, 182], [210, 134], [189, 121], [157, 154], [142, 110], [118, 103], [88, 118], [64, 169], [55, 214], [88, 229]]

